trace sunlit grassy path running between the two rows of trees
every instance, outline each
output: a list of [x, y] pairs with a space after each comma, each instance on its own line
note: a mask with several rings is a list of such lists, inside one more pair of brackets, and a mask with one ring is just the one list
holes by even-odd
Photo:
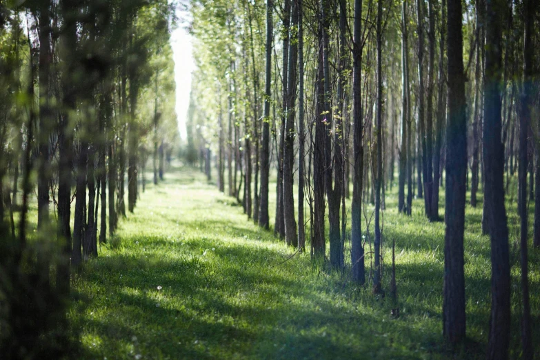
[[431, 308], [440, 288], [415, 300], [401, 279], [408, 299], [392, 319], [388, 301], [312, 269], [309, 254], [283, 263], [294, 251], [196, 170], [167, 174], [139, 203], [75, 282], [70, 321], [85, 358], [450, 357]]

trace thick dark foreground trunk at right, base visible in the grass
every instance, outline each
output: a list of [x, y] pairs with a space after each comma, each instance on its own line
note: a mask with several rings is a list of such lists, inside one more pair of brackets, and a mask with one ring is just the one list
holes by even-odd
[[444, 237], [443, 334], [465, 339], [463, 231], [467, 172], [467, 119], [461, 0], [448, 0], [448, 124], [446, 126], [446, 231]]

